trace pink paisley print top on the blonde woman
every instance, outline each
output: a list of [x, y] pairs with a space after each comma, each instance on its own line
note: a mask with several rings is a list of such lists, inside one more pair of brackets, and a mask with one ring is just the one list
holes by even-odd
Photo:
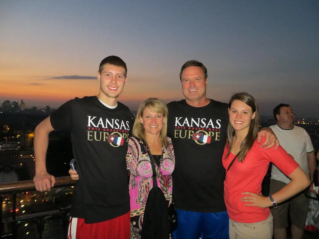
[[[172, 201], [172, 172], [175, 167], [175, 158], [172, 141], [167, 137], [168, 148], [163, 145], [163, 160], [158, 166], [155, 163], [157, 185], [164, 192], [167, 202]], [[130, 137], [126, 154], [127, 169], [130, 170], [130, 216], [131, 239], [141, 238], [146, 200], [153, 187], [152, 165], [143, 144], [135, 137]]]

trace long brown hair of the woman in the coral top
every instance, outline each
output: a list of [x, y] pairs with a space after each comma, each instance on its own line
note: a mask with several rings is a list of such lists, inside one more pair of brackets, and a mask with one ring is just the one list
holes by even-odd
[[[256, 112], [255, 118], [250, 121], [248, 134], [246, 135], [245, 139], [241, 142], [241, 145], [240, 145], [240, 153], [238, 155], [238, 161], [242, 162], [242, 161], [244, 161], [248, 151], [251, 149], [251, 147], [253, 146], [253, 144], [256, 141], [257, 134], [259, 132], [260, 114], [259, 114], [259, 109], [258, 109], [258, 105], [256, 103], [256, 100], [254, 99], [254, 97], [252, 97], [248, 93], [241, 92], [241, 93], [234, 94], [232, 96], [232, 98], [230, 99], [229, 104], [228, 104], [229, 110], [230, 110], [230, 107], [231, 107], [234, 100], [240, 100], [240, 101], [244, 102], [246, 105], [248, 105], [252, 108], [253, 113]], [[234, 135], [235, 135], [235, 129], [230, 124], [230, 122], [228, 122], [227, 143], [226, 143], [228, 150], [227, 150], [226, 157], [229, 156], [230, 151], [233, 147]]]

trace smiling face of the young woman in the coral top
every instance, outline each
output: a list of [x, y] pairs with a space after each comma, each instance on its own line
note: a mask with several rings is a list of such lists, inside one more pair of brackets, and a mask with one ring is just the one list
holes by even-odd
[[240, 100], [234, 100], [228, 109], [229, 123], [237, 130], [245, 130], [248, 132], [250, 122], [255, 118], [256, 112], [252, 108]]

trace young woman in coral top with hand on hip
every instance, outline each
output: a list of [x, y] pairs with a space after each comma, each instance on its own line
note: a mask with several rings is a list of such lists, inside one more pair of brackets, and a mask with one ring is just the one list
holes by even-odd
[[[269, 207], [293, 197], [309, 184], [309, 179], [293, 158], [280, 146], [260, 148], [260, 115], [255, 99], [247, 93], [235, 94], [229, 102], [227, 143], [223, 155], [226, 169], [224, 198], [229, 215], [230, 239], [272, 239], [273, 219]], [[261, 184], [269, 163], [274, 163], [291, 182], [273, 195], [261, 194]]]

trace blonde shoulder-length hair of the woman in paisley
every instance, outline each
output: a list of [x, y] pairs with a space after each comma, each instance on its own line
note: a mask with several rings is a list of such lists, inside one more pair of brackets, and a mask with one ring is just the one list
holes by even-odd
[[133, 125], [133, 136], [137, 137], [139, 139], [145, 140], [145, 129], [143, 124], [140, 121], [140, 116], [143, 117], [143, 112], [145, 108], [148, 107], [152, 112], [154, 113], [162, 113], [165, 117], [165, 120], [163, 122], [163, 128], [160, 131], [160, 141], [161, 145], [165, 143], [165, 148], [168, 147], [168, 141], [167, 141], [167, 117], [168, 117], [168, 109], [166, 104], [157, 99], [157, 98], [148, 98], [142, 102], [142, 104], [138, 107], [134, 125]]

